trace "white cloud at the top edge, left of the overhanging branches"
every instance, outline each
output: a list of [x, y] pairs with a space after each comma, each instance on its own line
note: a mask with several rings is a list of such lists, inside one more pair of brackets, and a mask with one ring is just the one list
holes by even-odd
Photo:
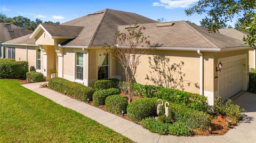
[[153, 6], [163, 6], [166, 9], [174, 8], [187, 8], [199, 0], [160, 0], [160, 2], [154, 2]]

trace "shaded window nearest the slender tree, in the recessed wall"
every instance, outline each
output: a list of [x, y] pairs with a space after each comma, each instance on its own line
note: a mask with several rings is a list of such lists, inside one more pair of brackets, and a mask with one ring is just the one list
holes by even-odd
[[108, 79], [109, 60], [108, 53], [98, 53], [98, 80]]

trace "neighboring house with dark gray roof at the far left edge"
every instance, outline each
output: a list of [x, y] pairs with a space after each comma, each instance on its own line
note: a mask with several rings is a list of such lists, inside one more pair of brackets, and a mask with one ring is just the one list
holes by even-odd
[[[5, 47], [1, 43], [27, 35], [29, 33], [32, 33], [32, 31], [15, 26], [11, 23], [0, 22], [0, 57], [5, 57], [7, 52]], [[12, 49], [10, 49], [9, 52], [14, 53]]]

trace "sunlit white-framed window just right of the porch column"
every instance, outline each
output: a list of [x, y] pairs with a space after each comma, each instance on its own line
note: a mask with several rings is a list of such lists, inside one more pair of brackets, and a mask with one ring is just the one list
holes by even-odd
[[76, 79], [84, 79], [84, 54], [76, 54]]

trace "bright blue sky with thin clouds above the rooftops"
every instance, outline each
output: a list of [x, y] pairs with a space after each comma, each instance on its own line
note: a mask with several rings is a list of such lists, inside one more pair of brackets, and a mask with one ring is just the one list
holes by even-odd
[[205, 15], [186, 16], [184, 12], [197, 2], [198, 0], [0, 0], [0, 12], [11, 17], [22, 15], [31, 20], [40, 18], [43, 21], [62, 23], [103, 9], [114, 9], [138, 13], [154, 20], [190, 20], [199, 24]]

